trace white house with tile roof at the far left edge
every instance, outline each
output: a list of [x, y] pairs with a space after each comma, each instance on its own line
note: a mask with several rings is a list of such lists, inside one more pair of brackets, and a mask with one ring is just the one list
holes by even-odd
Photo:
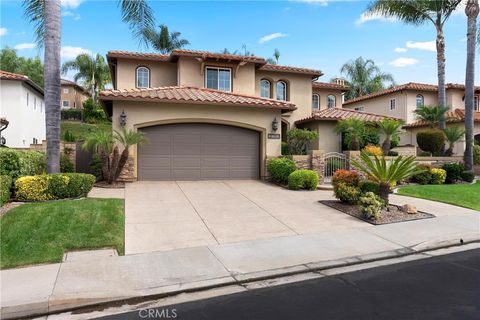
[[2, 140], [11, 148], [29, 148], [45, 140], [43, 89], [27, 76], [0, 71], [0, 118], [9, 125]]

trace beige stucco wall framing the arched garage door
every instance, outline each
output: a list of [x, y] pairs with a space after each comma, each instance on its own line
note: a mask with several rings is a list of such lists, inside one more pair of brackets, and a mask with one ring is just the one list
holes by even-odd
[[[259, 109], [232, 106], [189, 105], [179, 103], [149, 103], [115, 101], [113, 103], [112, 127], [119, 129], [119, 115], [125, 111], [128, 129], [137, 130], [157, 124], [167, 123], [217, 123], [244, 127], [260, 132], [260, 173], [265, 176], [265, 160], [267, 157], [281, 155], [281, 139], [268, 139], [273, 133], [272, 121], [280, 119], [280, 110]], [[280, 129], [275, 133], [280, 134]], [[132, 148], [135, 163], [135, 177], [137, 176], [137, 148]]]

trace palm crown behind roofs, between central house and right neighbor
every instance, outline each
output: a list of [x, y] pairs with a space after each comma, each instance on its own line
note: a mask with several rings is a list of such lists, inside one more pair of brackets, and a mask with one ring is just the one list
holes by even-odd
[[350, 91], [345, 94], [347, 100], [382, 90], [387, 84], [395, 84], [391, 74], [382, 72], [373, 60], [363, 57], [345, 63], [340, 72], [350, 86]]

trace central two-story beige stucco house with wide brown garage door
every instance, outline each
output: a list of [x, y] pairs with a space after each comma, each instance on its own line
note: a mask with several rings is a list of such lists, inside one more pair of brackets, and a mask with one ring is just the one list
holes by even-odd
[[[113, 129], [123, 124], [148, 141], [132, 148], [127, 166], [128, 177], [140, 180], [263, 177], [287, 130], [301, 119], [306, 126], [312, 113], [341, 108], [348, 89], [316, 82], [319, 70], [255, 56], [110, 51], [107, 60], [114, 89], [100, 100]], [[331, 130], [321, 139], [339, 141]]]

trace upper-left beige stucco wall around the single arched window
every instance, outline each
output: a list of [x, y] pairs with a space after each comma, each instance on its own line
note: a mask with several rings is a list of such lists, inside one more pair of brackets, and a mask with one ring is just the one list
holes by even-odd
[[177, 65], [175, 63], [118, 59], [116, 88], [135, 88], [135, 71], [140, 66], [145, 66], [150, 69], [150, 87], [154, 88], [177, 85]]

